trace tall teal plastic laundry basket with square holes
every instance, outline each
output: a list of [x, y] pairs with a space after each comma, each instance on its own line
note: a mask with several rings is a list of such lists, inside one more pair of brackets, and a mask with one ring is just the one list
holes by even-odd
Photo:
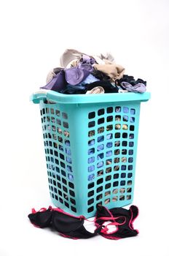
[[31, 95], [40, 106], [55, 206], [93, 217], [97, 205], [132, 203], [140, 105], [149, 97], [149, 92]]

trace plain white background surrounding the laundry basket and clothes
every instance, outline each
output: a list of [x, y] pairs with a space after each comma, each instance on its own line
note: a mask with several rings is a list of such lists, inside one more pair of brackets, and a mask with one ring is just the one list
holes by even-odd
[[[0, 255], [169, 255], [169, 1], [2, 0], [0, 26]], [[66, 48], [111, 51], [152, 93], [141, 104], [135, 238], [74, 241], [28, 221], [32, 207], [51, 204], [39, 105], [29, 96]]]

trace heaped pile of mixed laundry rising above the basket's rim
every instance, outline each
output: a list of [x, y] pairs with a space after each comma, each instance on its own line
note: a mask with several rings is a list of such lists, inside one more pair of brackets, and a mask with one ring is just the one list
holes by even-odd
[[60, 67], [49, 72], [46, 83], [41, 89], [61, 94], [146, 91], [146, 81], [125, 75], [125, 68], [115, 63], [111, 53], [90, 56], [74, 49], [67, 49], [60, 56]]

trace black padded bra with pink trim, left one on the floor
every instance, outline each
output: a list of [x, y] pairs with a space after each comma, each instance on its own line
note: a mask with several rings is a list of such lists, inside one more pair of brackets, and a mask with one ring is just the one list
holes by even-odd
[[66, 214], [57, 208], [53, 210], [51, 207], [47, 211], [38, 211], [29, 214], [28, 218], [31, 223], [38, 227], [52, 227], [58, 231], [60, 235], [68, 238], [91, 238], [101, 232], [102, 227], [97, 227], [94, 233], [90, 233], [84, 228], [84, 217], [74, 217]]

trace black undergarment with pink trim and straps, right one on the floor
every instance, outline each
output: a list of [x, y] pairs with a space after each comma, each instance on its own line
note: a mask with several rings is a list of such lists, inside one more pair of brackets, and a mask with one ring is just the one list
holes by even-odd
[[104, 206], [98, 206], [95, 224], [97, 227], [101, 227], [106, 221], [112, 222], [112, 225], [117, 222], [114, 224], [117, 226], [117, 230], [112, 233], [107, 233], [108, 228], [105, 227], [101, 230], [101, 236], [109, 239], [127, 238], [138, 235], [138, 230], [134, 230], [133, 228], [133, 221], [137, 216], [137, 206], [130, 206], [129, 210], [122, 207], [108, 210]]

